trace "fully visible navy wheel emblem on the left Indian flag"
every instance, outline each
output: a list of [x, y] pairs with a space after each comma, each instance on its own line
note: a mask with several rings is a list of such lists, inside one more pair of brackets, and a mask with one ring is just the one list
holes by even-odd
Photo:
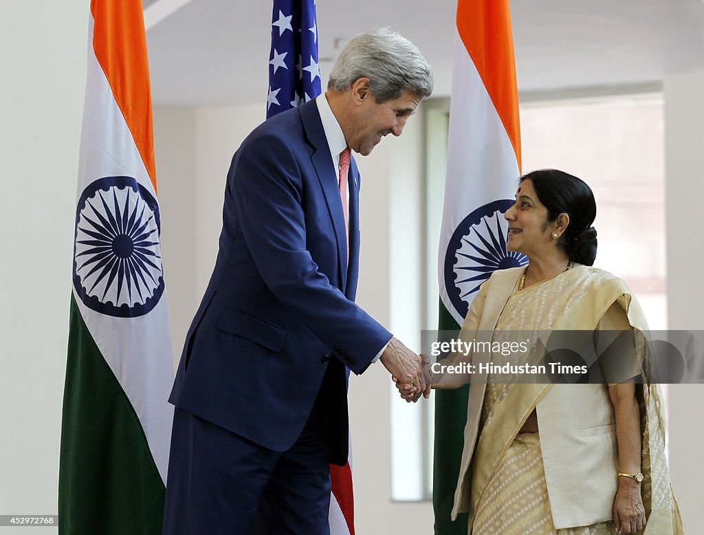
[[156, 199], [132, 177], [84, 189], [76, 209], [73, 286], [92, 310], [116, 317], [149, 313], [164, 291]]

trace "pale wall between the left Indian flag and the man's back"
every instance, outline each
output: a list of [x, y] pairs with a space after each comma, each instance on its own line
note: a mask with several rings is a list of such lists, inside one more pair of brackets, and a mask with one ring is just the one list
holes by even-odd
[[175, 363], [218, 253], [232, 155], [264, 106], [154, 108], [162, 253]]

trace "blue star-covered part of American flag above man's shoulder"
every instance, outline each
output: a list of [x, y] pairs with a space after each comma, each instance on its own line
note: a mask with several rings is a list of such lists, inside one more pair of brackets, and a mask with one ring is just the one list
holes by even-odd
[[321, 92], [315, 0], [274, 0], [267, 118]]

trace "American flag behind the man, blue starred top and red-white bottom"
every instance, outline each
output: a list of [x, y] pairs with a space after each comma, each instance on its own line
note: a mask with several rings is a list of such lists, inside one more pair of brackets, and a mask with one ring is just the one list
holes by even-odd
[[[266, 116], [296, 108], [320, 93], [315, 0], [274, 0]], [[355, 535], [351, 445], [349, 452], [344, 467], [330, 465], [331, 535]]]

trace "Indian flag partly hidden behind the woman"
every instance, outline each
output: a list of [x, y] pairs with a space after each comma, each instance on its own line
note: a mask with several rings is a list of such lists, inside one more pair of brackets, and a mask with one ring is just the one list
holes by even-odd
[[[527, 260], [505, 248], [503, 213], [520, 176], [520, 127], [508, 0], [459, 0], [438, 275], [439, 329], [457, 331], [479, 285]], [[437, 391], [435, 533], [467, 534], [450, 513], [467, 421], [468, 386]]]

